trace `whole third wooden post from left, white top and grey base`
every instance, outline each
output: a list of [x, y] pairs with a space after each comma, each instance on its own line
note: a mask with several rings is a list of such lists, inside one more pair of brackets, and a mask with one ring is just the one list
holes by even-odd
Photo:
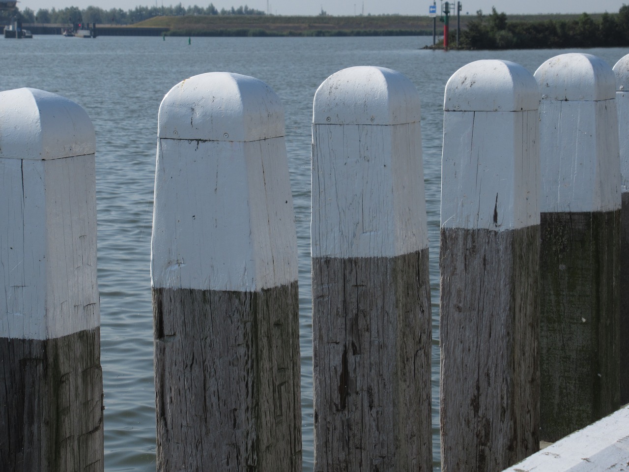
[[315, 94], [315, 471], [430, 471], [430, 281], [420, 99], [379, 67]]

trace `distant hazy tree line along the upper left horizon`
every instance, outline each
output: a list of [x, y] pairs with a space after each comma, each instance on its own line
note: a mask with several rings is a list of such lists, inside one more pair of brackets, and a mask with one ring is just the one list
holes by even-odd
[[183, 16], [201, 14], [264, 15], [265, 12], [254, 8], [249, 8], [247, 5], [239, 6], [238, 8], [231, 7], [231, 9], [229, 10], [221, 8], [219, 11], [211, 3], [206, 8], [196, 5], [184, 8], [181, 3], [179, 3], [175, 6], [161, 7], [136, 6], [136, 8], [128, 11], [124, 11], [120, 8], [105, 10], [96, 6], [88, 6], [85, 9], [80, 9], [75, 6], [70, 6], [63, 9], [42, 8], [39, 9], [37, 12], [31, 10], [30, 8], [25, 8], [21, 11], [19, 9], [16, 9], [15, 16], [21, 19], [24, 23], [99, 23], [101, 25], [131, 25], [133, 23], [138, 23], [138, 21], [153, 18], [153, 16]]

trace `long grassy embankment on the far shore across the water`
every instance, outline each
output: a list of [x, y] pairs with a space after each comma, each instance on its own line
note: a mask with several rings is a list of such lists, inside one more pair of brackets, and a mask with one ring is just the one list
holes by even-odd
[[[597, 18], [597, 14], [591, 15]], [[513, 21], [571, 20], [577, 14], [509, 15]], [[462, 15], [461, 29], [476, 15]], [[450, 17], [450, 29], [457, 25]], [[270, 16], [203, 15], [156, 16], [135, 25], [169, 28], [170, 36], [421, 36], [432, 35], [433, 19], [426, 16]], [[443, 23], [437, 19], [437, 34]]]

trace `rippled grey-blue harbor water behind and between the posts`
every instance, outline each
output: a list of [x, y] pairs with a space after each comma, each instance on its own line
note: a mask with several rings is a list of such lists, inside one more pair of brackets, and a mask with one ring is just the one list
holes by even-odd
[[[379, 65], [420, 91], [433, 305], [433, 460], [438, 470], [438, 245], [443, 89], [463, 65], [506, 59], [531, 72], [576, 50], [422, 50], [431, 37], [0, 39], [0, 90], [34, 87], [81, 104], [96, 128], [98, 281], [105, 401], [105, 468], [155, 470], [150, 238], [157, 110], [170, 87], [218, 70], [257, 77], [282, 99], [299, 246], [304, 471], [313, 468], [310, 280], [312, 101], [337, 70]], [[610, 65], [629, 50], [591, 49]]]

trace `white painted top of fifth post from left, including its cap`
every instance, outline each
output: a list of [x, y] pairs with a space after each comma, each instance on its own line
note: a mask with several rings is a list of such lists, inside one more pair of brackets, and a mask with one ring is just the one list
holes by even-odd
[[567, 53], [535, 71], [542, 213], [620, 208], [616, 76], [604, 60]]

